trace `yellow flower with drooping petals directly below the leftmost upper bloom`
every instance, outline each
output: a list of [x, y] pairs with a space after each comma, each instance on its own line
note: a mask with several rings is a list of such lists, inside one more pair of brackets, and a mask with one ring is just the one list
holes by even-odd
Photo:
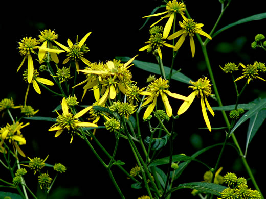
[[[27, 81], [28, 70], [25, 70], [25, 71], [24, 71], [23, 76], [24, 76], [23, 79], [24, 79], [25, 81]], [[40, 78], [40, 77], [38, 77], [38, 76], [39, 76], [39, 72], [38, 72], [37, 70], [34, 70], [33, 77], [32, 77], [32, 81], [29, 82], [29, 85], [28, 85], [28, 88], [27, 88], [27, 91], [26, 91], [26, 95], [25, 95], [25, 103], [24, 103], [25, 105], [26, 105], [27, 96], [28, 96], [28, 93], [29, 93], [29, 89], [30, 89], [30, 84], [31, 84], [31, 83], [32, 83], [32, 85], [33, 85], [34, 90], [35, 90], [38, 94], [41, 93], [41, 91], [40, 91], [40, 87], [39, 87], [39, 85], [38, 85], [38, 82], [39, 82], [39, 83], [42, 83], [42, 84], [49, 85], [49, 86], [53, 86], [53, 85], [54, 85], [54, 83], [53, 83], [52, 81], [50, 81], [50, 80], [48, 80], [48, 79], [45, 79], [45, 78]]]

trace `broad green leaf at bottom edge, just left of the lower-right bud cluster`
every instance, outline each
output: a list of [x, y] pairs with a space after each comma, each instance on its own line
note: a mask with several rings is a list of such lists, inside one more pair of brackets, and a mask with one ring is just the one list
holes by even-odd
[[184, 183], [184, 184], [180, 184], [179, 186], [170, 189], [167, 192], [167, 195], [172, 193], [173, 191], [176, 191], [179, 189], [184, 189], [184, 188], [196, 189], [196, 190], [201, 191], [201, 192], [221, 196], [220, 192], [222, 192], [224, 189], [226, 189], [228, 187], [225, 187], [225, 186], [222, 186], [219, 184], [214, 184], [214, 183], [206, 183], [206, 182]]

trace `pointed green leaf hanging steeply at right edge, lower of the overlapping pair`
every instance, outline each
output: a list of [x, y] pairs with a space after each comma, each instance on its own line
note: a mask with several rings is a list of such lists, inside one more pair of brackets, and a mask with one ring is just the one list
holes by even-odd
[[251, 142], [252, 138], [257, 133], [259, 127], [262, 125], [265, 119], [266, 119], [266, 110], [260, 110], [250, 118], [249, 128], [247, 133], [245, 156], [247, 155], [248, 152], [249, 143]]

